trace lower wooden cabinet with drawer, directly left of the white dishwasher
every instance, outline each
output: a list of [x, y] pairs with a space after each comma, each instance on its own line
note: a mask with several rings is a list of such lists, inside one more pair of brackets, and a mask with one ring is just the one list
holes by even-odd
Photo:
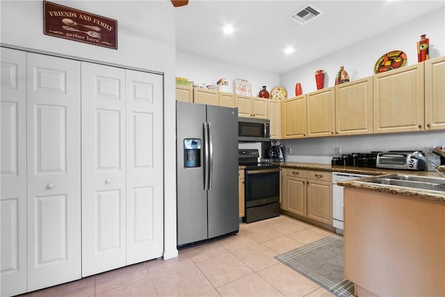
[[332, 173], [307, 171], [307, 217], [332, 225]]

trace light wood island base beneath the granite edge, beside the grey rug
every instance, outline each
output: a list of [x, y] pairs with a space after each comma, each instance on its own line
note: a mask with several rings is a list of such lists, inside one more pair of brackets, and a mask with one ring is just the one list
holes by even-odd
[[445, 194], [344, 188], [344, 271], [356, 296], [445, 296]]

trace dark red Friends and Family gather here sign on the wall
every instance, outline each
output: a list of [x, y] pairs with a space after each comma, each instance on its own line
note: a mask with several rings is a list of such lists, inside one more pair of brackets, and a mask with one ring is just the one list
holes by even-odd
[[44, 34], [118, 49], [118, 21], [43, 1]]

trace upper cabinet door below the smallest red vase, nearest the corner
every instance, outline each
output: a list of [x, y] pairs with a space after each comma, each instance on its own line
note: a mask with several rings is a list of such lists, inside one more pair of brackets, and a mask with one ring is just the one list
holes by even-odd
[[305, 138], [307, 134], [306, 95], [282, 102], [282, 138]]

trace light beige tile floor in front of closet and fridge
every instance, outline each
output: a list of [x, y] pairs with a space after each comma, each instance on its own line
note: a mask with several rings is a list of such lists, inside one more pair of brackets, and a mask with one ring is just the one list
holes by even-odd
[[289, 216], [238, 234], [23, 296], [334, 296], [274, 257], [332, 233]]

